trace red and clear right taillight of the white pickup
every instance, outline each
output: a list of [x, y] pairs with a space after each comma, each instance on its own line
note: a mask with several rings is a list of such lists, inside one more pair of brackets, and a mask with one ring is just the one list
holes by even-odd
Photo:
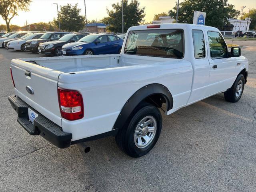
[[58, 87], [58, 98], [62, 118], [72, 121], [84, 117], [83, 98], [79, 92]]

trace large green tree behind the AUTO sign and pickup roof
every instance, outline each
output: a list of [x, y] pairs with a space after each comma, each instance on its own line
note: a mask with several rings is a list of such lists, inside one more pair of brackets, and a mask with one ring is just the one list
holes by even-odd
[[[168, 13], [176, 18], [177, 3]], [[234, 5], [228, 4], [228, 0], [184, 0], [180, 3], [178, 22], [193, 23], [194, 11], [206, 12], [205, 25], [220, 28], [228, 25], [229, 18], [235, 18], [240, 14], [234, 9]]]

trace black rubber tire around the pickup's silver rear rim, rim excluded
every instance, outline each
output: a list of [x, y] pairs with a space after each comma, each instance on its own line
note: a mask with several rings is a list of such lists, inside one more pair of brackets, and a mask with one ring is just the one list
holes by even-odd
[[[152, 137], [152, 140], [144, 148], [138, 148], [135, 144], [136, 141], [136, 128], [140, 121], [148, 116], [154, 117], [156, 120], [156, 132]], [[116, 135], [116, 143], [121, 150], [131, 157], [141, 157], [147, 154], [156, 144], [162, 129], [162, 116], [158, 108], [155, 106], [143, 102], [140, 104], [134, 112], [130, 115], [130, 118], [126, 122], [123, 128], [120, 128], [118, 134]], [[151, 134], [151, 133], [147, 133]], [[144, 142], [146, 140], [143, 140]]]

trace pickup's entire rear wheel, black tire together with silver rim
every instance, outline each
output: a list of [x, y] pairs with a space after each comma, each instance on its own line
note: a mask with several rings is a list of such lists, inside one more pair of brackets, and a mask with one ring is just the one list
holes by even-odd
[[158, 108], [141, 104], [129, 122], [116, 136], [116, 143], [131, 157], [147, 154], [156, 144], [162, 129], [162, 116]]

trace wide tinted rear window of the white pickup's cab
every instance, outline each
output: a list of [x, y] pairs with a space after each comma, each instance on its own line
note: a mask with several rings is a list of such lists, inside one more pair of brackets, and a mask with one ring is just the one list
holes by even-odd
[[125, 54], [183, 58], [184, 34], [181, 29], [130, 31]]

